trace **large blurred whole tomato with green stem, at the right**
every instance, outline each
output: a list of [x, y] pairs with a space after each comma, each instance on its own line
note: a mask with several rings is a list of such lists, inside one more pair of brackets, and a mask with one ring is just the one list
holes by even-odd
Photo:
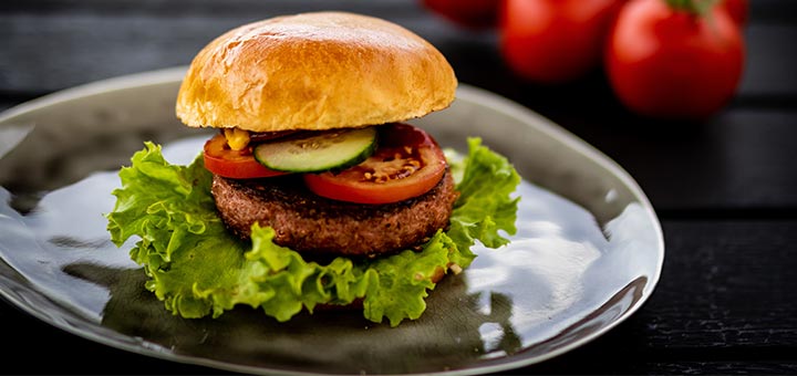
[[721, 7], [700, 17], [662, 0], [623, 7], [605, 66], [620, 101], [645, 116], [704, 119], [733, 96], [744, 65], [738, 27]]

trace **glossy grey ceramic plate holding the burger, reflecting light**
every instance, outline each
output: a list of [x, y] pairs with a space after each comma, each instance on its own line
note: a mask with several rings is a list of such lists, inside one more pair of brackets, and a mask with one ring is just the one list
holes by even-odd
[[116, 170], [143, 140], [187, 163], [207, 134], [173, 103], [184, 69], [60, 92], [0, 117], [0, 295], [64, 331], [149, 356], [255, 374], [477, 374], [529, 365], [593, 340], [651, 295], [664, 246], [648, 199], [619, 166], [539, 115], [463, 85], [417, 121], [441, 144], [467, 136], [522, 175], [518, 234], [477, 249], [417, 321], [396, 328], [359, 312], [278, 324], [236, 309], [182, 320], [143, 288], [131, 243], [108, 241], [103, 213]]

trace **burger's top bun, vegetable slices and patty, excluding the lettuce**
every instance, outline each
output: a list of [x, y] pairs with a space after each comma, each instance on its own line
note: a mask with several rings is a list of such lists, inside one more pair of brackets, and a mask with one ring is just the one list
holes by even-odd
[[379, 255], [448, 224], [456, 191], [439, 146], [400, 122], [447, 107], [457, 80], [396, 24], [318, 12], [244, 25], [194, 59], [177, 116], [221, 133], [204, 150], [228, 228], [325, 255]]

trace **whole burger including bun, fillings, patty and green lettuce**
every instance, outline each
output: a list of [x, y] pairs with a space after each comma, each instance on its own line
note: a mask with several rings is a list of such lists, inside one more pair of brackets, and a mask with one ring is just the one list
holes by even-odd
[[456, 86], [439, 51], [381, 19], [314, 12], [230, 30], [199, 51], [176, 100], [185, 125], [218, 130], [190, 166], [153, 143], [134, 155], [112, 240], [141, 237], [131, 255], [147, 289], [185, 317], [247, 304], [280, 321], [317, 306], [417, 318], [476, 240], [499, 247], [515, 230], [519, 177], [505, 158], [472, 139], [455, 181], [434, 137], [405, 123], [448, 107]]

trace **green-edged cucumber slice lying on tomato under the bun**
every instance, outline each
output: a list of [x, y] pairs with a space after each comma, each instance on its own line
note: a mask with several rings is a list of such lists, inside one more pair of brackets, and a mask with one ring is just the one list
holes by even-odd
[[324, 130], [310, 137], [288, 138], [255, 147], [263, 166], [289, 173], [320, 173], [354, 166], [376, 148], [376, 128]]

